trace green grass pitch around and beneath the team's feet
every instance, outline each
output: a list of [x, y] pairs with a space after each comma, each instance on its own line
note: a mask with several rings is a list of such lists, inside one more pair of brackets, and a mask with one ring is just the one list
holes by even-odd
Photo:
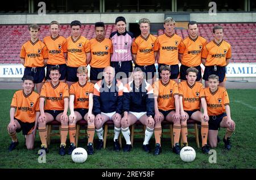
[[[59, 156], [59, 139], [52, 139], [49, 146], [49, 153], [46, 156], [46, 163], [39, 164], [38, 150], [40, 149], [39, 133], [36, 135], [35, 149], [26, 150], [24, 148], [24, 137], [18, 133], [19, 145], [17, 150], [8, 152], [7, 148], [11, 141], [7, 134], [7, 124], [10, 121], [9, 110], [11, 98], [15, 90], [0, 90], [1, 101], [0, 112], [0, 168], [256, 168], [256, 90], [228, 90], [232, 119], [236, 122], [236, 132], [232, 136], [232, 150], [224, 149], [224, 144], [219, 143], [217, 152], [217, 163], [210, 164], [208, 158], [210, 154], [202, 154], [196, 148], [195, 138], [189, 136], [189, 145], [196, 150], [196, 159], [191, 163], [185, 163], [180, 157], [171, 152], [171, 142], [168, 136], [162, 140], [163, 153], [153, 156], [142, 151], [142, 136], [135, 137], [134, 148], [130, 153], [113, 152], [112, 139], [108, 139], [105, 150], [95, 151], [93, 156], [88, 156], [84, 164], [73, 163], [71, 156]], [[221, 129], [220, 137], [224, 136], [225, 130]], [[123, 143], [125, 140], [122, 140]], [[80, 139], [79, 146], [85, 148], [87, 140]], [[201, 142], [200, 142], [201, 143]], [[150, 141], [154, 146], [154, 136]]]

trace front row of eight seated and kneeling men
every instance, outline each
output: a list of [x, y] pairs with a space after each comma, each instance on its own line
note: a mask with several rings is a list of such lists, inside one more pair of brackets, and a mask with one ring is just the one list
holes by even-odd
[[[230, 116], [228, 93], [224, 87], [218, 86], [219, 81], [216, 75], [209, 76], [209, 87], [204, 89], [202, 83], [196, 82], [198, 70], [188, 68], [187, 81], [177, 85], [170, 79], [170, 67], [161, 66], [162, 79], [151, 86], [143, 78], [142, 70], [134, 68], [133, 81], [123, 86], [121, 81], [114, 78], [114, 69], [108, 66], [104, 69], [104, 78], [93, 85], [88, 82], [87, 68], [81, 66], [77, 69], [79, 81], [68, 89], [67, 83], [59, 81], [61, 75], [57, 66], [53, 66], [49, 72], [52, 81], [44, 83], [40, 96], [32, 91], [34, 79], [30, 76], [23, 78], [23, 90], [15, 92], [10, 108], [10, 123], [7, 127], [12, 139], [9, 151], [18, 145], [16, 132], [21, 130], [26, 137], [27, 149], [33, 149], [36, 127], [38, 127], [42, 141], [41, 148], [48, 152], [46, 124], [57, 120], [61, 123], [59, 154], [65, 155], [68, 133], [71, 143], [68, 154], [71, 154], [76, 148], [76, 123], [81, 119], [88, 122], [88, 154], [94, 153], [95, 131], [98, 136], [96, 149], [102, 148], [104, 141], [102, 125], [108, 120], [114, 122], [115, 151], [121, 149], [118, 142], [121, 131], [126, 140], [123, 151], [131, 150], [129, 126], [139, 120], [146, 126], [143, 150], [151, 152], [148, 142], [154, 133], [154, 154], [160, 154], [162, 152], [161, 122], [164, 119], [174, 123], [172, 150], [176, 154], [179, 154], [181, 148], [180, 132], [183, 140], [182, 146], [188, 145], [188, 119], [201, 122], [203, 153], [208, 153], [210, 147], [217, 146], [220, 127], [226, 128], [223, 139], [225, 148], [231, 148], [230, 136], [234, 132], [235, 123]], [[68, 106], [71, 111], [69, 117]], [[200, 107], [203, 107], [203, 112], [200, 111]]]

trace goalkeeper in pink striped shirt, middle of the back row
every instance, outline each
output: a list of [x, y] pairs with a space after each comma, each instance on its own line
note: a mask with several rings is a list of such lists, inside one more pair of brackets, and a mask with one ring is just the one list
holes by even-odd
[[133, 71], [133, 59], [131, 57], [131, 44], [134, 35], [126, 31], [126, 20], [123, 16], [115, 19], [117, 31], [112, 32], [110, 39], [113, 44], [113, 55], [111, 56], [110, 65], [115, 68], [117, 79], [122, 79], [123, 83], [128, 82], [129, 73]]

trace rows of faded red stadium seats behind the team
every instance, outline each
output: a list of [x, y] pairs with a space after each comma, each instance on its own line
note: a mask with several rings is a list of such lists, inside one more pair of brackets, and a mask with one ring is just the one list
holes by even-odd
[[[217, 24], [199, 24], [199, 35], [208, 41], [212, 40], [214, 25]], [[256, 23], [220, 23], [219, 25], [224, 27], [224, 40], [232, 45], [232, 60], [230, 62], [256, 62]], [[105, 37], [109, 37], [112, 32], [116, 31], [114, 24], [106, 24], [105, 27]], [[177, 28], [175, 31], [183, 39], [188, 36], [187, 30]], [[81, 33], [87, 39], [96, 37], [94, 24], [82, 24]], [[155, 36], [163, 34], [164, 30], [158, 30]], [[48, 25], [42, 24], [39, 39], [42, 40], [48, 35]], [[61, 24], [60, 35], [64, 37], [71, 35], [71, 28], [68, 24]], [[0, 25], [0, 63], [20, 63], [20, 48], [28, 39], [30, 39], [28, 25]]]

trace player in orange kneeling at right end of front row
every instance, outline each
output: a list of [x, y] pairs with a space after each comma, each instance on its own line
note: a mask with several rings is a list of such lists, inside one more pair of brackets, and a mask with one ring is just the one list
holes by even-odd
[[212, 74], [208, 77], [208, 86], [205, 88], [205, 99], [207, 101], [207, 111], [209, 114], [209, 144], [212, 148], [217, 146], [217, 136], [219, 128], [226, 128], [223, 141], [225, 148], [230, 150], [230, 136], [236, 128], [236, 124], [231, 119], [229, 97], [225, 87], [218, 87], [218, 76]]

